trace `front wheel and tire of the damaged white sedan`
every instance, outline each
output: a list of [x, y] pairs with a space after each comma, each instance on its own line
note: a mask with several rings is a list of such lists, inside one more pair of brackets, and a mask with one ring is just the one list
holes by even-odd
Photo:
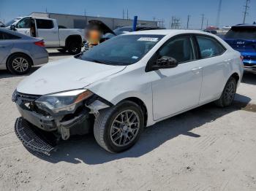
[[[130, 124], [133, 121], [133, 125], [127, 125], [127, 114], [128, 121]], [[121, 124], [121, 118], [124, 124]], [[123, 152], [138, 141], [143, 126], [144, 115], [140, 106], [132, 101], [123, 101], [99, 111], [94, 122], [94, 137], [99, 146], [108, 152]]]

